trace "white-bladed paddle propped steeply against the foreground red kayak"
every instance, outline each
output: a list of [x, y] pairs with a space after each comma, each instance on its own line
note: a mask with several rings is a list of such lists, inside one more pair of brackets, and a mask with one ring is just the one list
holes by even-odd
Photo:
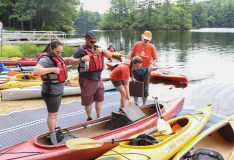
[[162, 116], [161, 109], [157, 100], [158, 100], [158, 97], [155, 96], [154, 101], [155, 101], [155, 106], [158, 112], [157, 129], [158, 131], [163, 132], [165, 134], [170, 134], [172, 133], [171, 126], [169, 125], [168, 122], [164, 121], [164, 117]]

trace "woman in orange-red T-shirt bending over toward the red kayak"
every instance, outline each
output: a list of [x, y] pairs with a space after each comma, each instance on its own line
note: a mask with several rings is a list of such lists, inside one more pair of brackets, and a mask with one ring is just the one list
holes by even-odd
[[128, 99], [128, 105], [132, 104], [129, 95], [129, 77], [131, 76], [133, 82], [136, 81], [133, 77], [132, 69], [139, 69], [142, 63], [142, 59], [136, 56], [131, 61], [129, 60], [118, 65], [110, 75], [113, 85], [121, 94], [120, 110], [125, 107], [126, 99]]

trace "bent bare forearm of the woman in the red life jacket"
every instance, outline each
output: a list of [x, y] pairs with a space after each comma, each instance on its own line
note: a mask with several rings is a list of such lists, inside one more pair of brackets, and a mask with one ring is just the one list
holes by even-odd
[[40, 76], [40, 75], [44, 75], [44, 74], [51, 73], [51, 72], [54, 72], [55, 74], [59, 74], [60, 70], [61, 69], [55, 68], [55, 67], [44, 68], [41, 64], [37, 64], [36, 67], [34, 68], [34, 75]]

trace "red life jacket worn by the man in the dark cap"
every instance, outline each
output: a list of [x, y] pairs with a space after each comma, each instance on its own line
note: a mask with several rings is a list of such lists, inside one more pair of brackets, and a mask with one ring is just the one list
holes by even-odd
[[[94, 71], [102, 71], [105, 68], [104, 64], [104, 56], [103, 53], [99, 55], [93, 51], [92, 49], [88, 48], [86, 45], [83, 45], [84, 51], [89, 56], [89, 69], [85, 68], [85, 62], [80, 63], [80, 72], [94, 72]], [[94, 48], [98, 48], [98, 46], [94, 46]]]

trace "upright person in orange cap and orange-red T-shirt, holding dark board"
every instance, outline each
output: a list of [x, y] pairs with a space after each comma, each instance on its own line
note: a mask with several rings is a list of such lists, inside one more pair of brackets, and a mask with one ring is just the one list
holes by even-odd
[[[152, 44], [150, 44], [151, 39], [152, 33], [150, 31], [145, 31], [142, 35], [142, 41], [136, 42], [132, 48], [132, 52], [130, 53], [130, 59], [135, 56], [139, 56], [143, 60], [142, 66], [137, 70], [133, 70], [134, 78], [137, 81], [144, 82], [144, 97], [142, 97], [143, 105], [145, 105], [147, 97], [149, 96], [148, 88], [150, 74], [154, 64], [157, 62], [156, 49]], [[151, 58], [153, 58], [153, 61], [150, 63]], [[135, 104], [138, 105], [138, 97], [134, 97], [134, 100]]]

